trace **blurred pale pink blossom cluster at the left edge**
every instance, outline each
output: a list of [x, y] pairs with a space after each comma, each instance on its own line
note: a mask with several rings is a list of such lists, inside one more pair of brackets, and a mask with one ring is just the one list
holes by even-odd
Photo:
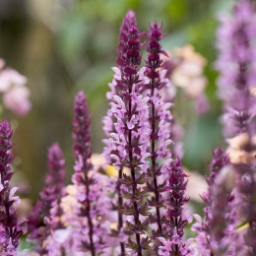
[[26, 87], [27, 78], [4, 66], [4, 60], [0, 59], [0, 93], [3, 94], [4, 106], [19, 115], [25, 115], [32, 108], [29, 99], [31, 92]]

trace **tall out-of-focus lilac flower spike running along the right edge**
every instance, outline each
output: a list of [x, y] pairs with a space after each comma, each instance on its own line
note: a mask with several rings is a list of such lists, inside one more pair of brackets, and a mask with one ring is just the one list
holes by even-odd
[[[221, 71], [219, 93], [224, 99], [226, 113], [224, 120], [232, 135], [249, 137], [244, 145], [248, 155], [255, 151], [256, 97], [253, 89], [256, 83], [256, 15], [251, 1], [241, 0], [233, 9], [233, 15], [223, 15], [218, 31], [220, 56], [217, 68]], [[239, 217], [246, 220], [249, 228], [245, 232], [244, 243], [256, 254], [256, 168], [255, 160], [234, 165], [240, 192], [237, 205]]]

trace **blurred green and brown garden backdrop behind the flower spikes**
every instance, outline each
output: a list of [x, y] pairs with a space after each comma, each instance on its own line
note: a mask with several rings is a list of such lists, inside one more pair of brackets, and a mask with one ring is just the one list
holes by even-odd
[[[93, 149], [101, 153], [107, 83], [115, 66], [122, 19], [129, 9], [139, 30], [162, 22], [164, 50], [192, 44], [206, 60], [206, 96], [210, 110], [197, 115], [191, 100], [175, 102], [173, 111], [185, 128], [183, 165], [208, 172], [212, 150], [224, 145], [216, 96], [217, 16], [229, 11], [231, 0], [0, 0], [0, 58], [28, 78], [32, 109], [23, 117], [4, 110], [15, 128], [16, 181], [28, 181], [34, 201], [47, 170], [47, 148], [58, 142], [67, 161], [67, 183], [73, 173], [73, 99], [85, 91], [92, 115]], [[146, 39], [146, 38], [145, 38]], [[143, 59], [146, 58], [144, 53]], [[143, 61], [142, 64], [145, 62]]]

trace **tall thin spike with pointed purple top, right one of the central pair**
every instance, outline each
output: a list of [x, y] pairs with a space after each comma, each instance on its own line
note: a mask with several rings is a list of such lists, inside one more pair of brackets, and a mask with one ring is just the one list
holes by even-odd
[[[145, 85], [145, 90], [150, 91], [148, 96], [150, 97], [149, 103], [150, 107], [150, 124], [151, 124], [151, 169], [150, 175], [153, 176], [153, 182], [148, 183], [149, 191], [155, 194], [155, 198], [150, 200], [151, 206], [156, 207], [157, 216], [152, 218], [153, 223], [158, 224], [158, 231], [156, 236], [162, 236], [162, 220], [160, 217], [160, 207], [162, 207], [162, 198], [160, 196], [160, 191], [164, 184], [159, 186], [158, 176], [160, 176], [161, 165], [157, 160], [162, 158], [169, 158], [170, 151], [167, 146], [171, 143], [170, 123], [168, 119], [171, 119], [171, 114], [168, 107], [171, 103], [164, 103], [161, 100], [159, 91], [162, 87], [168, 86], [169, 80], [164, 78], [166, 70], [160, 70], [162, 67], [163, 60], [160, 59], [160, 53], [166, 54], [161, 50], [160, 39], [164, 36], [160, 32], [160, 27], [157, 22], [154, 25], [150, 24], [151, 31], [148, 34], [149, 44], [147, 45], [147, 51], [149, 52], [148, 58], [146, 60], [147, 70], [145, 72], [146, 76], [149, 78], [150, 83]], [[161, 188], [160, 188], [161, 187]], [[160, 190], [161, 189], [161, 190]]]

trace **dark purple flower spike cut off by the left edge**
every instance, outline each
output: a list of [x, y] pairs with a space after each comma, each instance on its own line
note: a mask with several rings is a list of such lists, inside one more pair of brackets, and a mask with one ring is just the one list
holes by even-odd
[[0, 122], [0, 249], [1, 255], [18, 255], [17, 247], [19, 237], [27, 231], [24, 224], [26, 220], [18, 220], [16, 210], [21, 203], [15, 196], [17, 187], [11, 188], [13, 144], [11, 142], [13, 131], [11, 125], [4, 120]]

